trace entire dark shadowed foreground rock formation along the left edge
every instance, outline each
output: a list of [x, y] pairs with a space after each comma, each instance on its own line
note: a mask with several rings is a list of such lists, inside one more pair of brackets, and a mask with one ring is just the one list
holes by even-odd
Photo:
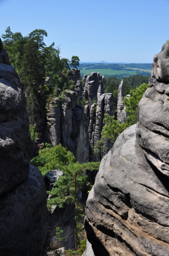
[[43, 256], [48, 210], [40, 171], [26, 158], [28, 114], [19, 77], [0, 39], [1, 255]]

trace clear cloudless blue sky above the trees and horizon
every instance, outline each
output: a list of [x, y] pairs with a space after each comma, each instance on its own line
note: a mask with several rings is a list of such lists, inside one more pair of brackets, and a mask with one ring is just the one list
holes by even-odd
[[169, 39], [169, 0], [0, 0], [0, 36], [46, 30], [61, 57], [152, 63]]

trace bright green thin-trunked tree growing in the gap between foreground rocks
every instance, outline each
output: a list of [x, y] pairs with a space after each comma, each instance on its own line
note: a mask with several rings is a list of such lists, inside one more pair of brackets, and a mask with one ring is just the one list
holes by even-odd
[[83, 189], [87, 183], [85, 170], [98, 170], [100, 163], [80, 164], [75, 162], [73, 153], [66, 151], [61, 144], [41, 150], [39, 156], [32, 159], [32, 163], [39, 168], [43, 175], [49, 170], [60, 169], [64, 172], [64, 176], [60, 176], [52, 191], [48, 192], [50, 194], [48, 207], [58, 205], [62, 208], [65, 203], [74, 205], [75, 249], [77, 250], [77, 218], [81, 211], [78, 207], [78, 191], [79, 188]]

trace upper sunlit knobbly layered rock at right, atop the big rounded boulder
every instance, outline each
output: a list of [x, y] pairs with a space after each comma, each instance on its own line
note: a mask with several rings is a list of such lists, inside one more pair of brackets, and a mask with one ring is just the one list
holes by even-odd
[[147, 159], [169, 177], [169, 46], [154, 56], [150, 88], [138, 105], [137, 139]]

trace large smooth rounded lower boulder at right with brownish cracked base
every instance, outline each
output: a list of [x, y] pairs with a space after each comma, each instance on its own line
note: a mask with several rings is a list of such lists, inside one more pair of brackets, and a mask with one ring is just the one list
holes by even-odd
[[97, 256], [169, 255], [167, 183], [147, 163], [135, 130], [104, 156], [87, 200], [87, 238]]

